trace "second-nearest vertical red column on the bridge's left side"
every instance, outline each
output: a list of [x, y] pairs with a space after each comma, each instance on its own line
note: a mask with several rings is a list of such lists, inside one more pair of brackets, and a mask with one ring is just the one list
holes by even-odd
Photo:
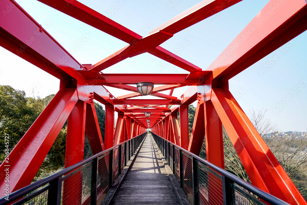
[[114, 139], [114, 106], [106, 107], [106, 124], [104, 132], [104, 146], [106, 149], [113, 147]]

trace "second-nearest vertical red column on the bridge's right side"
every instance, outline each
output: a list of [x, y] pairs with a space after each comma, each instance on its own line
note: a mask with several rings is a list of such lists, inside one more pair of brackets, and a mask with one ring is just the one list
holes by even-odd
[[180, 105], [179, 108], [181, 147], [186, 150], [189, 148], [188, 109], [189, 106], [186, 105]]

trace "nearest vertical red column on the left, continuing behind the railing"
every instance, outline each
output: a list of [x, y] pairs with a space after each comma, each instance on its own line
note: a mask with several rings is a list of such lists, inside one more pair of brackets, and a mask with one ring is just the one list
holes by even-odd
[[[78, 101], [68, 117], [65, 168], [84, 159], [86, 102]], [[79, 171], [64, 181], [63, 205], [81, 204], [83, 172]]]

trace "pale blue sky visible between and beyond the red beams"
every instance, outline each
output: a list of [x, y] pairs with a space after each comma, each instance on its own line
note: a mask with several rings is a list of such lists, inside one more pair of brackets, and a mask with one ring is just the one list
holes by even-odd
[[[127, 45], [35, 0], [17, 2], [82, 64], [95, 64]], [[200, 1], [80, 2], [146, 36], [151, 30]], [[161, 46], [205, 70], [267, 2], [268, 0], [243, 0], [212, 18], [175, 34]], [[82, 39], [86, 40], [80, 44]], [[268, 109], [267, 118], [276, 124], [279, 130], [306, 131], [306, 39], [307, 33], [304, 32], [288, 45], [275, 50], [229, 81], [230, 91], [244, 112], [248, 113], [251, 108], [265, 108]], [[185, 47], [180, 47], [183, 42], [188, 43]], [[27, 95], [32, 95], [31, 91], [34, 89], [34, 94], [41, 97], [57, 92], [59, 81], [56, 78], [1, 47], [0, 54], [1, 85], [11, 85], [15, 89], [25, 90]], [[148, 53], [128, 58], [103, 72], [187, 73]], [[175, 89], [173, 95], [180, 97], [186, 89], [187, 87]], [[113, 88], [110, 88], [110, 91], [115, 96], [129, 93]], [[194, 105], [196, 106], [196, 103]]]

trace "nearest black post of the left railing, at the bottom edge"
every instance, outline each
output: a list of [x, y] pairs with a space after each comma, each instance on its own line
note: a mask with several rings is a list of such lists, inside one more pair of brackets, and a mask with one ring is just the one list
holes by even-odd
[[62, 194], [62, 177], [56, 178], [49, 184], [51, 188], [48, 191], [48, 205], [60, 205]]

